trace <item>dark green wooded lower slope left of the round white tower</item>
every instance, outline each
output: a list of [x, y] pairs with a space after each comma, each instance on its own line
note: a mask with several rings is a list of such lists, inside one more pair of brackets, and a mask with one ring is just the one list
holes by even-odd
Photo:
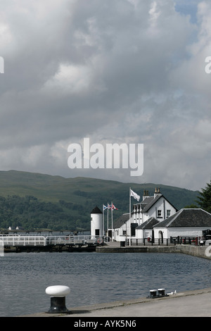
[[[80, 211], [83, 209], [83, 212]], [[80, 215], [81, 214], [81, 215]], [[40, 201], [35, 196], [0, 196], [0, 228], [15, 230], [77, 230], [90, 227], [90, 213], [79, 204], [63, 200]]]

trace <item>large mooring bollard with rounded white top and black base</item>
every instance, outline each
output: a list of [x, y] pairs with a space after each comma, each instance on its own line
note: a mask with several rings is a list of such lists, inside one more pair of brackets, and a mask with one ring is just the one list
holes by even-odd
[[65, 296], [70, 293], [70, 287], [54, 285], [46, 288], [46, 294], [51, 296], [51, 307], [47, 313], [71, 313], [65, 306]]

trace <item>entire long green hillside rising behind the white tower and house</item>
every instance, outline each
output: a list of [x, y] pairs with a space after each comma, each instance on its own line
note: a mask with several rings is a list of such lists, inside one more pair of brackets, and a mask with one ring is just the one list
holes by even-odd
[[[118, 208], [113, 219], [129, 211], [129, 187], [142, 196], [155, 187], [177, 208], [196, 204], [198, 191], [162, 184], [134, 184], [87, 177], [61, 176], [0, 171], [0, 227], [22, 227], [25, 230], [49, 228], [51, 230], [90, 229], [90, 211], [97, 205], [113, 201]], [[132, 199], [132, 204], [136, 200]]]

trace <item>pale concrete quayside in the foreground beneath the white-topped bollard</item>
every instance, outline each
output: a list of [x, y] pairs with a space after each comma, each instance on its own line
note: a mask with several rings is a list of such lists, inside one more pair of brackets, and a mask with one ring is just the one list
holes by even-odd
[[[211, 317], [211, 288], [196, 289], [161, 298], [140, 298], [113, 301], [107, 304], [68, 307], [70, 314], [53, 314], [54, 317]], [[21, 317], [21, 316], [20, 316]], [[49, 313], [37, 313], [23, 317], [52, 317]]]

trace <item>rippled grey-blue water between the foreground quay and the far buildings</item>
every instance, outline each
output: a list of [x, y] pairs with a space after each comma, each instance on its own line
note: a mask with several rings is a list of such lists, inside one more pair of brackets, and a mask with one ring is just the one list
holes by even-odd
[[48, 311], [45, 289], [67, 285], [66, 306], [211, 287], [211, 261], [184, 254], [21, 253], [0, 257], [0, 316]]

